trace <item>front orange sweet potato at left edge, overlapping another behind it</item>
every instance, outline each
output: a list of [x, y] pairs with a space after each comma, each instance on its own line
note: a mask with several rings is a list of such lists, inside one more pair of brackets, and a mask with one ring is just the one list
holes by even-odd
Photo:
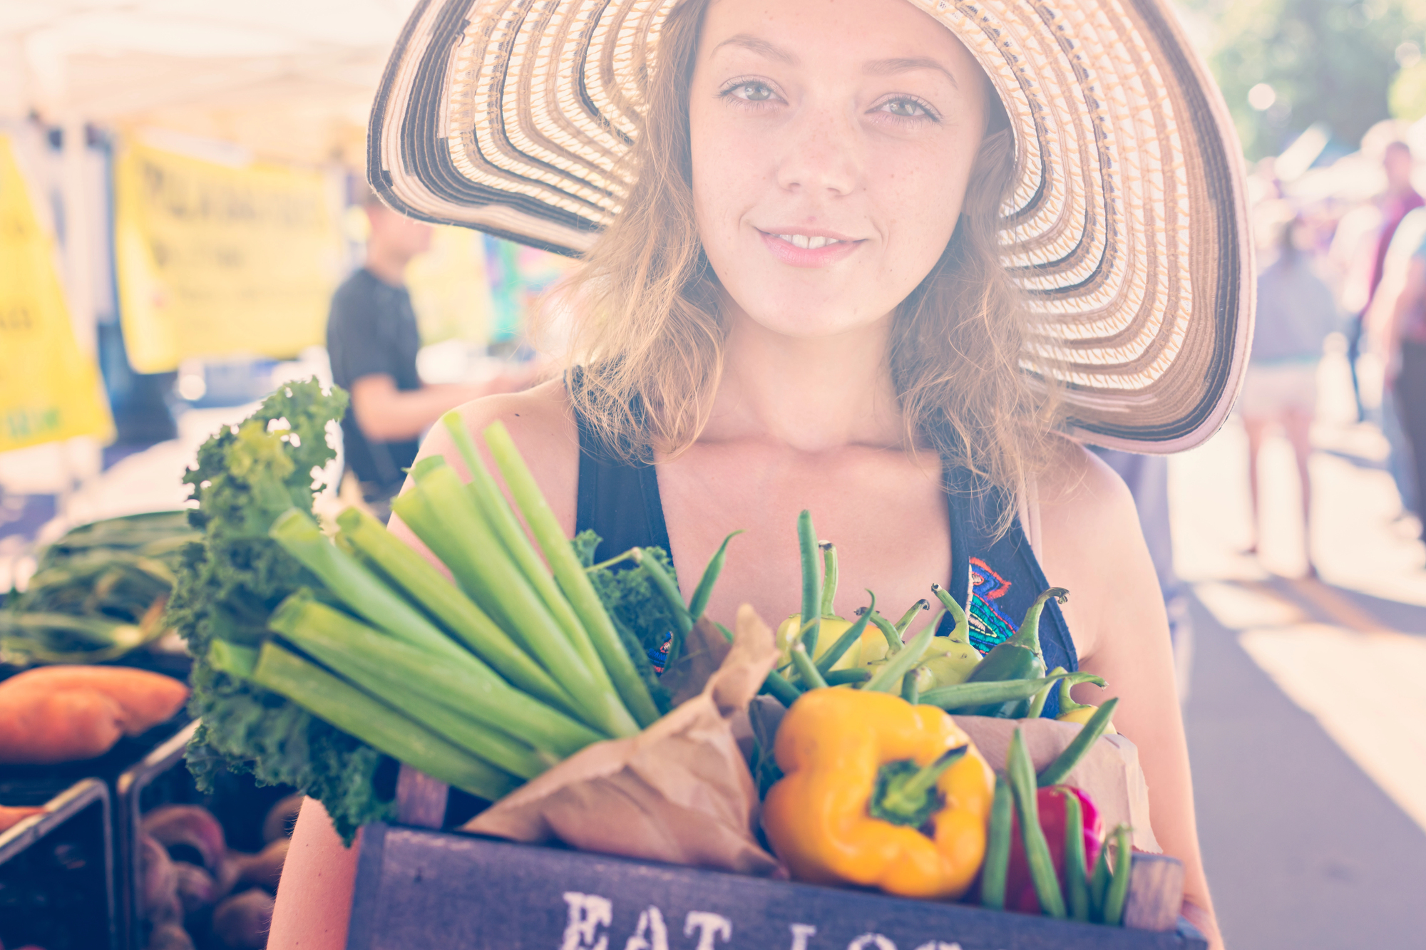
[[123, 719], [118, 703], [91, 689], [0, 689], [0, 763], [53, 765], [101, 756], [123, 735]]

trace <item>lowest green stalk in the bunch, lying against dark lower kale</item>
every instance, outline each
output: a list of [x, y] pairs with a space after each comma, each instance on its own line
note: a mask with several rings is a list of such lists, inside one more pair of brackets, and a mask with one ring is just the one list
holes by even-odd
[[505, 772], [277, 643], [262, 645], [252, 682], [378, 752], [471, 795], [495, 802], [519, 786]]

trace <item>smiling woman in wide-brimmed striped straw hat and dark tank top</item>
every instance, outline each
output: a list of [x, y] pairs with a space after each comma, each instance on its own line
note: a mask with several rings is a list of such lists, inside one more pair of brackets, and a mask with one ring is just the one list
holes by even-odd
[[[1184, 910], [1218, 946], [1134, 504], [1054, 432], [1172, 449], [1215, 429], [1235, 388], [1248, 321], [1221, 104], [1196, 74], [1148, 113], [1101, 90], [1102, 121], [1075, 113], [1088, 88], [1041, 96], [1054, 76], [1108, 83], [1091, 67], [1138, 54], [1192, 73], [1169, 21], [1121, 17], [1112, 56], [1034, 73], [1082, 24], [1005, 4], [1020, 26], [991, 29], [907, 0], [556, 6], [418, 10], [374, 114], [388, 201], [588, 248], [566, 301], [576, 365], [468, 405], [471, 429], [509, 427], [566, 531], [665, 541], [684, 579], [746, 528], [714, 615], [796, 609], [803, 508], [843, 552], [843, 615], [863, 588], [908, 603], [934, 581], [995, 640], [1015, 598], [1047, 576], [1070, 588], [1042, 622], [1047, 659], [1121, 698], [1154, 832], [1186, 869]], [[1129, 78], [1108, 84], [1132, 97]], [[1188, 107], [1199, 124], [1175, 124]], [[1198, 257], [1186, 213], [1211, 225]], [[438, 432], [422, 452], [451, 448]], [[354, 864], [309, 802], [270, 946], [341, 946]]]

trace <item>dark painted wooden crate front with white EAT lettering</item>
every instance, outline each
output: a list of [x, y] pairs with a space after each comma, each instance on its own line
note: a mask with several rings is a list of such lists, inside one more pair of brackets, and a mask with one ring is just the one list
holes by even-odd
[[1178, 931], [771, 882], [468, 834], [362, 833], [348, 950], [1205, 950]]

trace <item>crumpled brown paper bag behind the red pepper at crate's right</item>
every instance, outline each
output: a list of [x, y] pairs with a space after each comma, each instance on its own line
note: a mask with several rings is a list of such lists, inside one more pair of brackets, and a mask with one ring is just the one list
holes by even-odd
[[[1079, 735], [1079, 726], [1054, 719], [992, 719], [988, 716], [954, 716], [975, 747], [997, 772], [1005, 769], [1010, 739], [1020, 727], [1030, 752], [1030, 760], [1040, 772], [1055, 760], [1064, 747]], [[1071, 785], [1094, 800], [1105, 830], [1124, 823], [1134, 829], [1134, 847], [1152, 854], [1161, 853], [1154, 827], [1149, 824], [1149, 786], [1139, 767], [1138, 747], [1124, 736], [1101, 736], [1079, 763], [1065, 776]]]

